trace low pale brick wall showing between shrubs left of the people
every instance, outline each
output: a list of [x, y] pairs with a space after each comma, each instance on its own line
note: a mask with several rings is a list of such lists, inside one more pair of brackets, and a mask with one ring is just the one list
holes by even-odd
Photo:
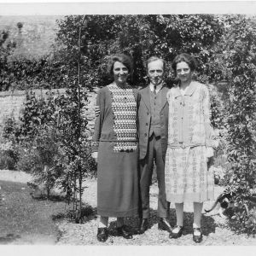
[[[51, 90], [54, 96], [60, 96], [65, 94], [66, 89], [55, 89]], [[95, 114], [93, 106], [96, 104], [96, 91], [88, 92], [88, 102], [86, 109], [84, 110], [84, 115], [89, 120], [90, 131], [94, 129]], [[47, 92], [49, 90], [33, 90], [35, 96], [47, 97]], [[22, 109], [24, 108], [24, 102], [26, 101], [26, 91], [25, 90], [14, 90], [14, 91], [1, 91], [0, 92], [0, 131], [3, 130], [3, 125], [6, 119], [14, 118], [19, 121], [20, 115], [22, 114]]]

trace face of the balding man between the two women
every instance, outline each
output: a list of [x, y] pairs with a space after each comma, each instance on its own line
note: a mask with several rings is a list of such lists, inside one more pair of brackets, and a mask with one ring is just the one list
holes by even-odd
[[148, 78], [153, 85], [162, 83], [164, 77], [164, 63], [156, 60], [148, 63]]

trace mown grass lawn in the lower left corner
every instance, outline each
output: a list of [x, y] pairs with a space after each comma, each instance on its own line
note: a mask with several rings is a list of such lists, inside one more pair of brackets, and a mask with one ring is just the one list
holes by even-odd
[[[55, 244], [60, 237], [52, 215], [66, 212], [63, 201], [32, 199], [26, 183], [0, 181], [0, 244]], [[65, 209], [66, 207], [66, 209]]]

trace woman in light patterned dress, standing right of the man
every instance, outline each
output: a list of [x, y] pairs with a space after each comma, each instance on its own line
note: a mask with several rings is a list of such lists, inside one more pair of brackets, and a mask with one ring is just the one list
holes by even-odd
[[213, 155], [209, 92], [192, 80], [195, 59], [177, 55], [172, 63], [179, 83], [167, 93], [169, 102], [166, 152], [166, 200], [175, 203], [177, 225], [170, 238], [183, 233], [183, 202], [194, 203], [193, 240], [201, 242], [203, 201], [213, 200], [213, 173], [207, 161]]

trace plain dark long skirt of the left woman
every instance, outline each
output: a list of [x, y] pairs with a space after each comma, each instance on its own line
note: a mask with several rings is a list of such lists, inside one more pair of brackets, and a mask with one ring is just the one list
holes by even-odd
[[113, 142], [100, 142], [97, 168], [97, 213], [106, 217], [138, 214], [138, 152], [113, 152]]

